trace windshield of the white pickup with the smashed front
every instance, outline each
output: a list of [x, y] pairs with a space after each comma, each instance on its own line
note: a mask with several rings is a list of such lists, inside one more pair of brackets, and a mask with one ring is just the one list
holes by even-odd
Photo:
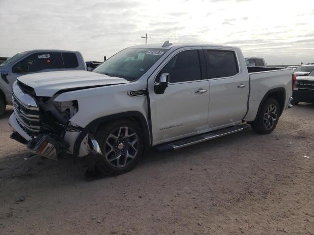
[[133, 81], [148, 71], [168, 49], [126, 48], [93, 70]]

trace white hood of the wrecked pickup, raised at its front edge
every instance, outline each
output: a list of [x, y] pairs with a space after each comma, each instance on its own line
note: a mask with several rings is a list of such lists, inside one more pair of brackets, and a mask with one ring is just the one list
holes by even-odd
[[18, 80], [34, 89], [37, 96], [53, 96], [62, 91], [129, 83], [124, 78], [89, 71], [53, 71], [32, 73]]

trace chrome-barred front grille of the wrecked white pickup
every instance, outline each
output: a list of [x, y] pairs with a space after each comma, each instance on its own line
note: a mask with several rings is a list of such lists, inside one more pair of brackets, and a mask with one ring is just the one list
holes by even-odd
[[[14, 92], [19, 94], [20, 98], [18, 98]], [[19, 90], [19, 87], [13, 88], [12, 101], [15, 116], [20, 126], [26, 131], [26, 133], [31, 136], [38, 135], [41, 127], [39, 107], [33, 105], [36, 101], [30, 95], [21, 92], [22, 91]], [[24, 97], [25, 100], [23, 100]], [[30, 100], [33, 101], [32, 105], [27, 104]]]

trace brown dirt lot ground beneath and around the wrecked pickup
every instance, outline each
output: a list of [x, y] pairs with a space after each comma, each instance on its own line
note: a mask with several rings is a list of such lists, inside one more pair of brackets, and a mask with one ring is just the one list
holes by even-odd
[[313, 105], [289, 109], [270, 135], [151, 150], [133, 171], [92, 182], [82, 159], [23, 160], [11, 113], [0, 118], [0, 234], [314, 235]]

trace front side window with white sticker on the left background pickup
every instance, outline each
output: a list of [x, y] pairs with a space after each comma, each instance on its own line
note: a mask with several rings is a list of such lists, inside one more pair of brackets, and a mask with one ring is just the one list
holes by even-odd
[[16, 63], [12, 72], [27, 73], [54, 68], [53, 54], [51, 52], [34, 53]]

